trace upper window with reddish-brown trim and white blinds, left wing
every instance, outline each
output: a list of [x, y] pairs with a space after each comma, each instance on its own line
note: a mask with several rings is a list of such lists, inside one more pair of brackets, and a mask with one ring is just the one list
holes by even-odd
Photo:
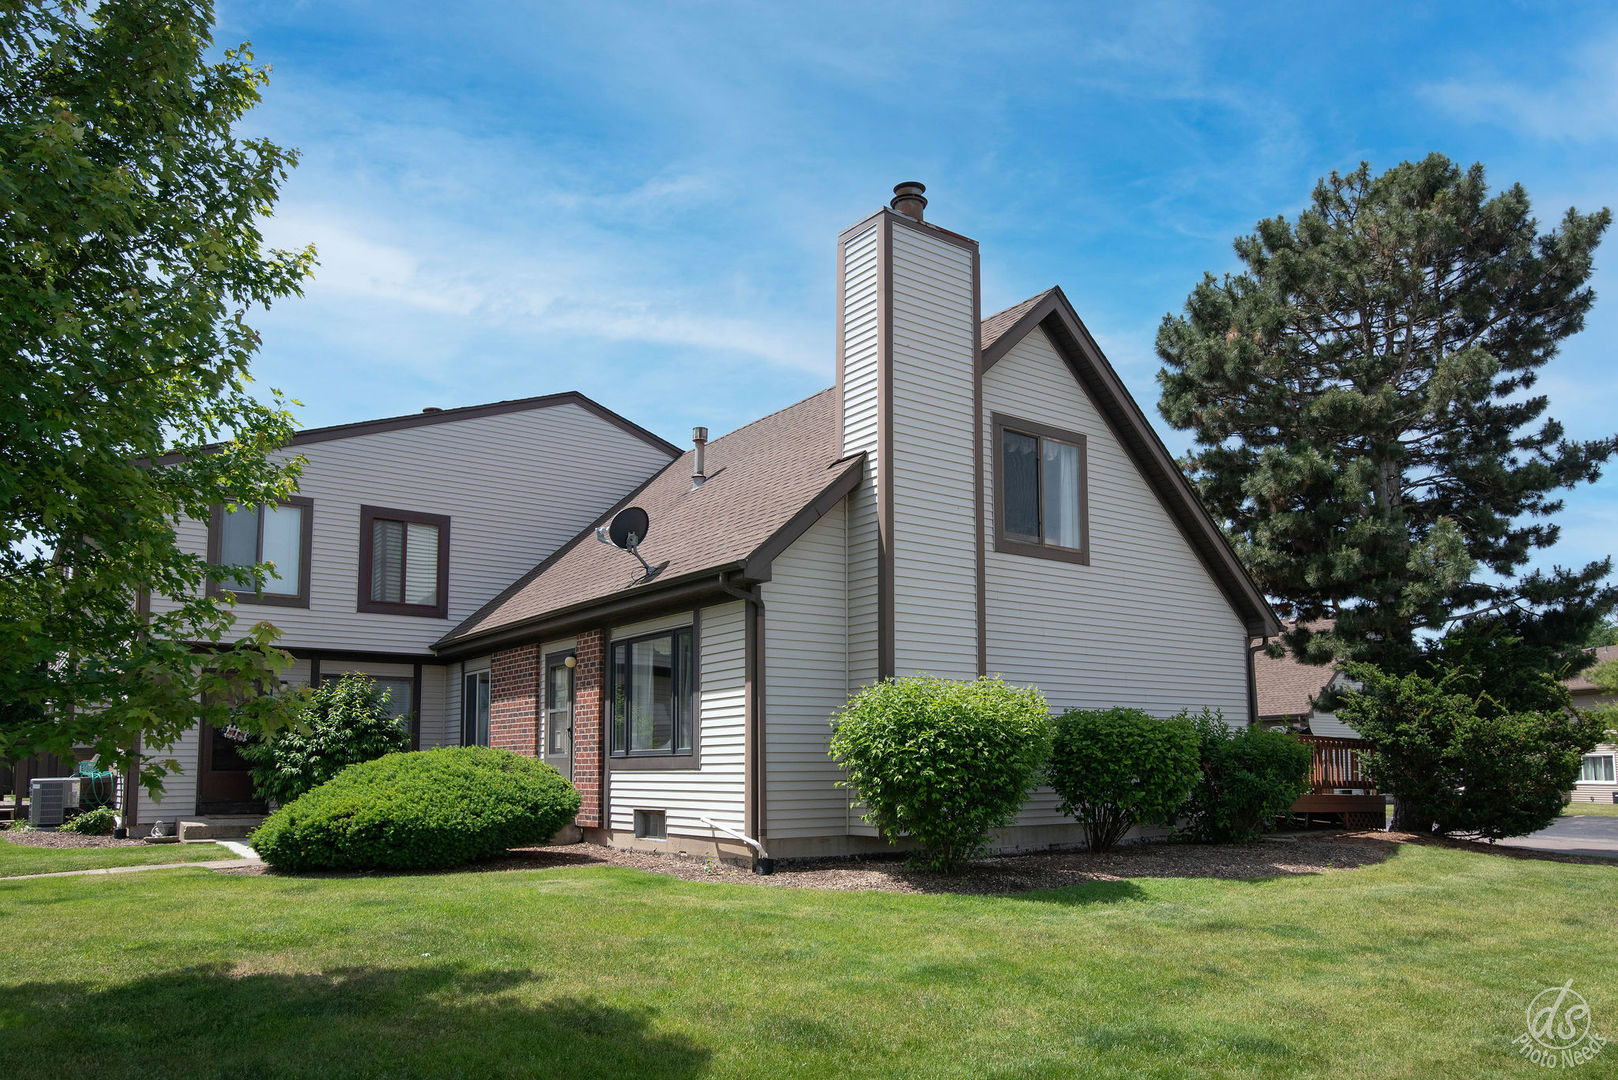
[[416, 510], [361, 507], [356, 610], [447, 617], [450, 518]]

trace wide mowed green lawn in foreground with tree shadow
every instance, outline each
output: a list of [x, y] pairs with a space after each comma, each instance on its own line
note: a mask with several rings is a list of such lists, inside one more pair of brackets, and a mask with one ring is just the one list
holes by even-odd
[[1618, 868], [1438, 847], [1023, 897], [173, 870], [0, 882], [0, 1061], [60, 1075], [1476, 1080], [1568, 980], [1618, 1033]]

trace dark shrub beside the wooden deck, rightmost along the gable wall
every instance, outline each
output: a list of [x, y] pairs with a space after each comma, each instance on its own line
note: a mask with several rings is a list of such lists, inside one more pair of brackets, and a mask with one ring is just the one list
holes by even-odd
[[1264, 727], [1230, 727], [1218, 712], [1192, 719], [1202, 777], [1186, 800], [1186, 836], [1209, 844], [1252, 840], [1309, 790], [1314, 755]]

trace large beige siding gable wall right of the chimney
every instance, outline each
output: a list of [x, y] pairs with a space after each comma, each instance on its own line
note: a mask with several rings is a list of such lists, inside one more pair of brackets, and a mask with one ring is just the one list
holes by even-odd
[[[1091, 565], [993, 551], [992, 413], [1087, 440]], [[989, 672], [1045, 691], [1053, 711], [1204, 706], [1247, 716], [1246, 631], [1129, 455], [1034, 330], [984, 376]], [[1036, 792], [1019, 824], [1058, 824]]]

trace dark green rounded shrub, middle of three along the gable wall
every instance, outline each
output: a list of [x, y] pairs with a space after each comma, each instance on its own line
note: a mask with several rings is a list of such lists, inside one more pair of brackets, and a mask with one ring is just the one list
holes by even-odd
[[1173, 824], [1202, 776], [1199, 745], [1184, 716], [1069, 709], [1057, 717], [1045, 782], [1091, 850], [1105, 852], [1137, 824]]

